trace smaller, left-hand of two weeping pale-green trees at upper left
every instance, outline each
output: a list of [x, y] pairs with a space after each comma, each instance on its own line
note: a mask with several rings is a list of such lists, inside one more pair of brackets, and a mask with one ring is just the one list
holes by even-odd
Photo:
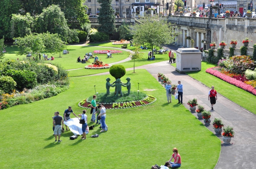
[[33, 17], [31, 17], [29, 13], [26, 13], [26, 15], [12, 14], [11, 36], [24, 37], [26, 34], [31, 34], [33, 25]]

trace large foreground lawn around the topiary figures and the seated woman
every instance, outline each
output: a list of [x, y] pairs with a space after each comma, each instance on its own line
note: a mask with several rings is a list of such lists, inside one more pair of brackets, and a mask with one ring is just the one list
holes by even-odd
[[[51, 117], [55, 111], [63, 115], [68, 106], [81, 113], [78, 102], [95, 94], [94, 85], [96, 92], [105, 92], [105, 79], [113, 79], [110, 75], [71, 78], [70, 89], [58, 96], [1, 110], [0, 166], [149, 169], [156, 163], [164, 164], [177, 147], [182, 158], [180, 169], [213, 169], [221, 141], [182, 104], [168, 104], [164, 87], [146, 70], [136, 72], [128, 71], [122, 79], [131, 77], [133, 91], [139, 82], [140, 92], [157, 97], [157, 101], [145, 107], [107, 110], [108, 132], [99, 133], [96, 125], [84, 141], [70, 140], [73, 133], [68, 131], [61, 135], [61, 143], [55, 143]], [[90, 113], [87, 115], [90, 121]], [[95, 133], [99, 138], [90, 138]], [[200, 158], [195, 158], [198, 154]]]

